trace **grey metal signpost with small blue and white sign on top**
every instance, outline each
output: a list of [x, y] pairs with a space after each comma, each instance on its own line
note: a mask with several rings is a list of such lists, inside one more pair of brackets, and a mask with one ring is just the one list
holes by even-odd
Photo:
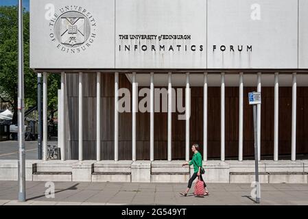
[[256, 175], [256, 203], [260, 203], [260, 183], [258, 170], [258, 148], [257, 148], [257, 104], [261, 104], [261, 92], [248, 93], [249, 104], [253, 106], [253, 123], [254, 123], [254, 166]]

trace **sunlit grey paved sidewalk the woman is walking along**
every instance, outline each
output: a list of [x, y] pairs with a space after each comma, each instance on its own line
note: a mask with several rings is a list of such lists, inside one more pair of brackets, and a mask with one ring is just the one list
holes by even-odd
[[[55, 182], [47, 198], [45, 182], [27, 181], [25, 203], [16, 201], [17, 181], [0, 181], [0, 205], [259, 205], [242, 183], [206, 183], [209, 196], [180, 196], [186, 183]], [[260, 205], [308, 205], [307, 184], [261, 184]]]

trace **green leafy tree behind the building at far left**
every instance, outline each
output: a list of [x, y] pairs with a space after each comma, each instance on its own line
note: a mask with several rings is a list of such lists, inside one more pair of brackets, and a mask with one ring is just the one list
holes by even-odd
[[[25, 108], [36, 105], [37, 75], [29, 68], [29, 12], [23, 11], [23, 60], [25, 84]], [[13, 120], [17, 123], [18, 97], [18, 8], [0, 7], [0, 99], [12, 107]], [[48, 79], [48, 107], [54, 113], [57, 107], [60, 75]]]

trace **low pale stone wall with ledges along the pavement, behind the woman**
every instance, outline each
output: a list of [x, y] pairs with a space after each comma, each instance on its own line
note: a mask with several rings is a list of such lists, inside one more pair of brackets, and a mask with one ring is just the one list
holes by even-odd
[[[0, 160], [0, 180], [16, 181], [17, 160]], [[123, 181], [187, 183], [193, 166], [182, 167], [185, 161], [60, 161], [26, 160], [27, 181]], [[251, 183], [254, 161], [236, 160], [204, 162], [206, 183]], [[267, 171], [265, 171], [267, 170]], [[259, 162], [261, 183], [308, 183], [308, 160]]]

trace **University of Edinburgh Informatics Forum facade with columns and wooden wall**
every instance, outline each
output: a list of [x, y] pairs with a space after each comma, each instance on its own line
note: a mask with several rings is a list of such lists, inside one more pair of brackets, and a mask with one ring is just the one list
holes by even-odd
[[307, 14], [305, 0], [31, 0], [30, 66], [45, 97], [47, 75], [61, 74], [62, 159], [189, 160], [193, 143], [204, 161], [250, 159], [252, 91], [259, 159], [302, 159]]

